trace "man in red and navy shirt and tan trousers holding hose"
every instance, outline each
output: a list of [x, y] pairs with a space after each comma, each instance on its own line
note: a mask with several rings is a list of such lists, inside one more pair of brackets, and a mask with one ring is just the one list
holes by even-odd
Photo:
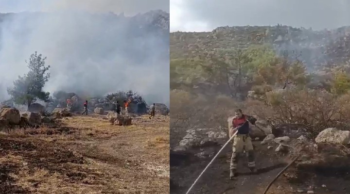
[[230, 163], [230, 179], [233, 179], [237, 176], [237, 163], [239, 155], [245, 151], [248, 153], [248, 167], [252, 173], [256, 173], [255, 168], [255, 158], [254, 158], [254, 148], [252, 140], [249, 136], [249, 122], [255, 124], [256, 118], [242, 114], [241, 109], [235, 111], [235, 116], [232, 120], [232, 127], [229, 129], [229, 137], [238, 130], [235, 137], [233, 137], [233, 146], [232, 146], [232, 157]]

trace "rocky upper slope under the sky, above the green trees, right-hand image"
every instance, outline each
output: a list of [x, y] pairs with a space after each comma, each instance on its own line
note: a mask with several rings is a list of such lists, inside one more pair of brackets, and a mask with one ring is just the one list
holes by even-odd
[[309, 70], [324, 64], [350, 63], [350, 27], [313, 31], [290, 26], [219, 27], [212, 32], [170, 33], [171, 58], [209, 49], [247, 48], [271, 44], [278, 51], [296, 51]]

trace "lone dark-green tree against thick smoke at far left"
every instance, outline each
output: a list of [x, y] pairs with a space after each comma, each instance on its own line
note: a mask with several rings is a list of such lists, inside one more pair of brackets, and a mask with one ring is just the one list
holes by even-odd
[[29, 72], [22, 77], [18, 76], [18, 80], [14, 81], [14, 87], [8, 88], [7, 92], [16, 104], [27, 105], [28, 107], [37, 99], [47, 101], [49, 92], [43, 92], [45, 83], [50, 78], [47, 72], [50, 68], [45, 66], [46, 57], [42, 54], [31, 54], [29, 62], [25, 61]]

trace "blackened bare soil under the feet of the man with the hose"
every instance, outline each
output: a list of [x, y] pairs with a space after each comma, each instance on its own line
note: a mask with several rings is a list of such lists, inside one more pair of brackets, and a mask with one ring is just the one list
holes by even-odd
[[[263, 194], [266, 186], [291, 162], [295, 155], [276, 152], [275, 149], [278, 146], [276, 144], [272, 149], [267, 149], [268, 145], [261, 145], [257, 141], [254, 142], [254, 146], [258, 167], [256, 174], [249, 172], [246, 156], [243, 155], [238, 165], [238, 177], [235, 180], [229, 180], [231, 148], [227, 146], [190, 193]], [[220, 146], [215, 147], [215, 154], [220, 148]], [[304, 153], [274, 182], [267, 194], [307, 193], [308, 191], [314, 191], [316, 194], [349, 194], [349, 156], [344, 156], [341, 151], [335, 152], [333, 149], [339, 149], [330, 145], [321, 145], [317, 149], [317, 152]], [[327, 149], [333, 151], [326, 151]], [[185, 194], [211, 160], [211, 158], [197, 158], [194, 153], [196, 150], [186, 153], [171, 152], [171, 194]]]

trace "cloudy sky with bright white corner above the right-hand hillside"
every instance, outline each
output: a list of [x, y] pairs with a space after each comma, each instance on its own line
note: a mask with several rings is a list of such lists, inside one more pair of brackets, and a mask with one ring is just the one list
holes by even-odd
[[277, 25], [314, 30], [350, 25], [350, 0], [170, 0], [170, 31]]

